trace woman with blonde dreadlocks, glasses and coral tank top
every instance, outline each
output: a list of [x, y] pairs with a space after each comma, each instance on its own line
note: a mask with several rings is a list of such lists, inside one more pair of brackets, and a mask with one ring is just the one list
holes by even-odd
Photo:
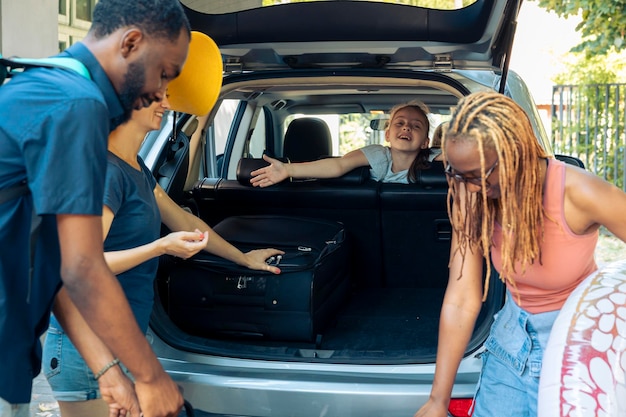
[[415, 417], [447, 415], [491, 262], [507, 296], [485, 343], [473, 416], [535, 416], [542, 352], [554, 319], [597, 269], [598, 228], [626, 241], [626, 194], [547, 155], [523, 109], [498, 93], [475, 93], [459, 102], [443, 155], [454, 231], [450, 279], [430, 399]]

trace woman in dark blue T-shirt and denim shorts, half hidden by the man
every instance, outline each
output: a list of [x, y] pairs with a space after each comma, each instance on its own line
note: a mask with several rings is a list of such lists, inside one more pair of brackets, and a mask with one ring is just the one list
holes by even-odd
[[[275, 249], [242, 253], [205, 222], [178, 206], [156, 183], [137, 152], [146, 133], [160, 128], [168, 108], [165, 97], [161, 102], [134, 111], [129, 122], [111, 132], [108, 145], [102, 213], [105, 259], [117, 275], [144, 333], [152, 311], [153, 281], [160, 255], [186, 259], [206, 250], [250, 269], [278, 274], [280, 270], [267, 265], [265, 260], [283, 253]], [[161, 222], [174, 232], [160, 238]], [[65, 296], [63, 290], [59, 296]], [[82, 333], [90, 332], [85, 328]], [[89, 350], [106, 349], [97, 338], [91, 343]], [[116, 361], [110, 364], [113, 365], [102, 370], [90, 370], [58, 321], [51, 317], [43, 371], [63, 417], [109, 415], [96, 377], [121, 372]]]

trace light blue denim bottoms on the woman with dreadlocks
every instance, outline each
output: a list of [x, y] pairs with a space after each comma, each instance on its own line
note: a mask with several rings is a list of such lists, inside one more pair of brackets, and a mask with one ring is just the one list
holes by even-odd
[[474, 417], [535, 417], [543, 351], [559, 311], [531, 314], [507, 291], [482, 356]]

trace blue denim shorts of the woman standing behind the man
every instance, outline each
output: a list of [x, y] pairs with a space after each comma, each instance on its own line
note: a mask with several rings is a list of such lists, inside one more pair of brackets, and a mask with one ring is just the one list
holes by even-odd
[[93, 372], [54, 320], [51, 320], [46, 334], [41, 367], [57, 401], [100, 398]]

